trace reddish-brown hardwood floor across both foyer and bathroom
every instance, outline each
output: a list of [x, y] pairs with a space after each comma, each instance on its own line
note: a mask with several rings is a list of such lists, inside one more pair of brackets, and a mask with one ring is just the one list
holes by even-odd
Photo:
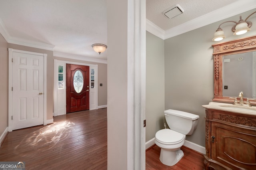
[[[185, 156], [174, 166], [159, 160], [160, 148], [146, 151], [146, 170], [202, 170], [203, 156], [182, 147]], [[26, 170], [106, 170], [107, 109], [68, 113], [54, 123], [14, 130], [0, 147], [0, 161], [23, 161]], [[124, 169], [126, 169], [124, 167]]]

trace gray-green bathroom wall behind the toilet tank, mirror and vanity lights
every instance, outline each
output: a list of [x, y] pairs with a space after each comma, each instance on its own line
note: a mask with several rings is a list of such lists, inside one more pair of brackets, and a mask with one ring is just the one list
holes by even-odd
[[[245, 19], [251, 10], [242, 14]], [[165, 67], [165, 109], [177, 109], [199, 115], [198, 128], [186, 140], [205, 146], [205, 111], [202, 105], [208, 104], [214, 97], [214, 64], [212, 41], [219, 24], [228, 20], [239, 20], [239, 16], [186, 32], [164, 41]], [[221, 42], [256, 34], [256, 15], [249, 19], [251, 31], [234, 36], [231, 28], [234, 24], [224, 24], [226, 39]], [[220, 42], [218, 42], [220, 43]], [[238, 92], [239, 93], [239, 92]], [[157, 120], [156, 120], [157, 121]]]

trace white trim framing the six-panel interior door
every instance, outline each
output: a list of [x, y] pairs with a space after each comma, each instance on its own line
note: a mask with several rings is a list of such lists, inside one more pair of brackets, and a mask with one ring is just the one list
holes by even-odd
[[8, 48], [8, 64], [9, 64], [9, 72], [8, 72], [8, 131], [12, 132], [12, 114], [13, 114], [13, 97], [12, 97], [12, 56], [13, 52], [18, 52], [18, 53], [26, 53], [26, 54], [32, 54], [32, 55], [40, 55], [44, 57], [44, 125], [47, 125], [47, 115], [46, 115], [46, 97], [47, 97], [47, 81], [46, 81], [46, 63], [47, 63], [47, 54], [43, 53], [35, 53], [35, 52], [30, 52], [30, 51], [22, 51], [18, 49], [12, 49]]

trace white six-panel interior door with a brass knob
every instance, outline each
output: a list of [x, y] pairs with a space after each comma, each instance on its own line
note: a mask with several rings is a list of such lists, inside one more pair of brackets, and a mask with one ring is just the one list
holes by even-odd
[[44, 123], [44, 57], [13, 52], [12, 130]]

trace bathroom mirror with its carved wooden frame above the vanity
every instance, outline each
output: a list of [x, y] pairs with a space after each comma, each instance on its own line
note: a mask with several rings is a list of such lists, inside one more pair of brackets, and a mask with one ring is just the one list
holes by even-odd
[[[238, 97], [241, 91], [245, 100], [256, 98], [256, 36], [218, 43], [212, 47], [213, 101], [233, 103], [234, 99], [230, 97]], [[256, 105], [256, 101], [250, 102]]]

